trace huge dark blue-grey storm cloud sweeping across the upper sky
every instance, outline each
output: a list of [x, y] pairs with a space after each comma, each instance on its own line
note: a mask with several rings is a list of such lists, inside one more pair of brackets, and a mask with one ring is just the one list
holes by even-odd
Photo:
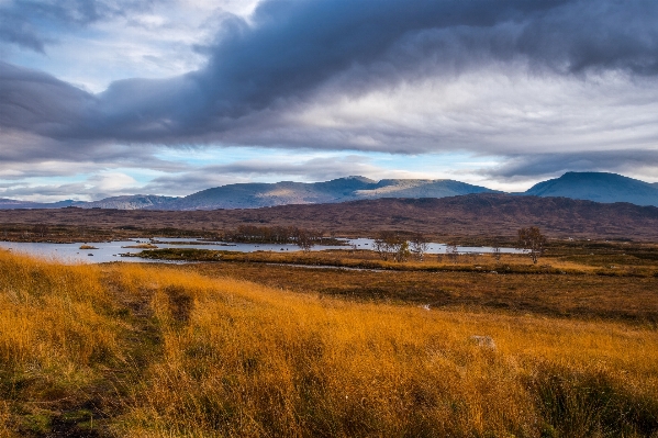
[[[42, 2], [11, 4], [20, 5], [12, 11], [83, 23], [118, 13], [110, 5], [121, 2], [46, 2], [43, 11]], [[7, 36], [13, 32], [7, 25], [0, 34], [43, 47], [38, 35], [31, 40], [30, 20], [23, 22], [22, 37]], [[517, 60], [555, 75], [658, 74], [654, 0], [272, 0], [260, 3], [249, 23], [228, 16], [221, 29], [214, 43], [200, 48], [208, 56], [201, 69], [169, 79], [120, 80], [98, 94], [0, 64], [0, 130], [73, 145], [66, 147], [176, 146], [249, 143], [255, 138], [249, 131], [276, 125], [280, 137], [259, 138], [260, 144], [286, 146], [295, 137], [285, 131], [297, 126], [281, 122], [281, 113], [327, 85], [358, 94]], [[359, 148], [339, 138], [333, 147]], [[379, 148], [400, 151], [394, 145]]]

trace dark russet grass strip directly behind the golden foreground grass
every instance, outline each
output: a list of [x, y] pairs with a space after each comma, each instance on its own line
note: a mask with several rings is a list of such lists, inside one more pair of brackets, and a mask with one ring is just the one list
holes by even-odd
[[658, 278], [596, 274], [508, 274], [482, 271], [372, 271], [290, 265], [208, 262], [187, 266], [274, 289], [354, 301], [430, 305], [444, 310], [508, 310], [546, 316], [658, 323]]

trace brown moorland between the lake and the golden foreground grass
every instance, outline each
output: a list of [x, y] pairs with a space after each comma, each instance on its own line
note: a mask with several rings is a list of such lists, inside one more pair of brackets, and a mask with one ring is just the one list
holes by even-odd
[[181, 269], [360, 302], [658, 324], [658, 246], [649, 244], [554, 244], [537, 265], [526, 255], [511, 254], [500, 260], [462, 254], [392, 262], [370, 250], [245, 254], [177, 248], [143, 256], [201, 261]]

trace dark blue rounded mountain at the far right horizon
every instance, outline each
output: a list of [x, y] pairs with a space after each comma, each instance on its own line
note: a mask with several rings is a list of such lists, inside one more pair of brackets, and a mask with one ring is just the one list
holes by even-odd
[[539, 182], [523, 194], [658, 206], [658, 184], [605, 172], [567, 172]]

